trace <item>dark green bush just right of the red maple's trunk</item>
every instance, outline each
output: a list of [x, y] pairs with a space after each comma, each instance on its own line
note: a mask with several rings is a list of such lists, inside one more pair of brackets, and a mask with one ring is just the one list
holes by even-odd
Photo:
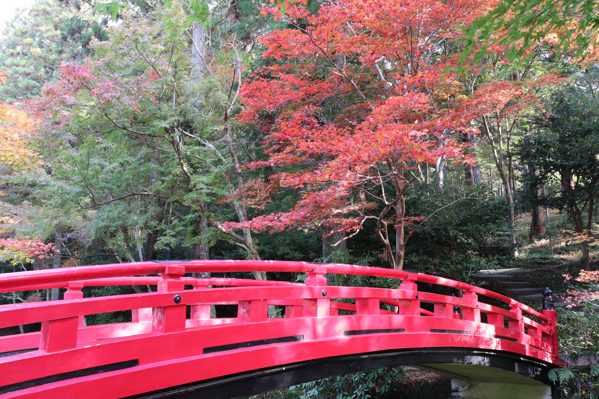
[[[485, 186], [415, 185], [406, 200], [409, 214], [428, 216], [438, 211], [412, 235], [406, 246], [407, 270], [471, 281], [479, 270], [498, 267], [512, 252], [504, 198], [493, 197]], [[418, 222], [415, 222], [418, 225]]]

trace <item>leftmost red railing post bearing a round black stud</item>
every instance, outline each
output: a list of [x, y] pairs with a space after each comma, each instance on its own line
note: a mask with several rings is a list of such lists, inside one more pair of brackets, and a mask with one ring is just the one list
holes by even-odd
[[[162, 279], [158, 282], [158, 292], [183, 291], [184, 282], [181, 276], [185, 274], [185, 267], [166, 265]], [[173, 305], [155, 307], [153, 312], [152, 330], [159, 333], [172, 333], [185, 329], [185, 305], [177, 305], [181, 301], [177, 295], [173, 297]]]

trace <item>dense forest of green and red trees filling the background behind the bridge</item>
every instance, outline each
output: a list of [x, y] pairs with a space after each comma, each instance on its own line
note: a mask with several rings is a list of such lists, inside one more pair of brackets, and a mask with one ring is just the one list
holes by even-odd
[[544, 247], [595, 269], [596, 6], [35, 0], [1, 32], [0, 271], [282, 259], [471, 282]]

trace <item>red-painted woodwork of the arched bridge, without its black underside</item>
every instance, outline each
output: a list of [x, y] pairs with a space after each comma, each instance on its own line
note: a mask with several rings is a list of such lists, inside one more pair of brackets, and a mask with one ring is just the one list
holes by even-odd
[[[291, 283], [184, 276], [186, 273], [234, 271], [306, 273], [307, 278], [305, 283]], [[328, 286], [326, 273], [389, 277], [401, 280], [401, 283], [398, 281], [398, 288]], [[140, 276], [147, 274], [158, 276]], [[418, 291], [416, 282], [462, 290], [461, 297]], [[86, 286], [120, 285], [155, 285], [157, 291], [95, 298], [83, 298], [81, 291]], [[353, 353], [351, 350], [360, 347], [374, 351], [375, 348], [445, 346], [501, 350], [546, 364], [564, 364], [558, 357], [555, 310], [545, 309], [540, 313], [487, 289], [401, 270], [292, 261], [172, 261], [0, 274], [0, 292], [50, 288], [67, 288], [64, 300], [0, 306], [0, 328], [42, 324], [37, 333], [0, 336], [2, 399], [43, 397], [50, 389], [49, 385], [31, 386], [31, 381], [52, 377], [55, 375], [52, 373], [68, 374], [78, 368], [100, 367], [107, 358], [113, 359], [114, 364], [135, 358], [138, 365], [93, 378], [55, 383], [53, 389], [58, 391], [53, 394], [62, 392], [61, 395], [69, 396], [78, 392], [77, 389], [92, 389], [96, 382], [104, 384], [107, 380], [118, 381], [120, 378], [125, 381], [126, 373], [150, 373], [144, 375], [156, 378], [151, 389], [132, 386], [129, 392], [130, 395], [140, 394], [177, 382], [159, 382], [160, 379], [152, 374], [153, 367], [158, 370], [164, 367], [164, 362], [172, 363], [173, 367], [184, 362], [201, 364], [213, 359], [207, 354], [211, 352], [206, 352], [213, 350], [211, 347], [235, 346], [244, 341], [264, 341], [264, 345], [252, 348], [255, 353], [260, 350], [275, 353], [283, 345], [295, 347], [300, 344], [267, 344], [269, 340], [285, 337], [301, 337], [304, 345], [328, 345], [326, 349], [312, 352], [300, 350], [301, 356], [308, 356], [305, 359], [323, 357], [323, 353], [327, 356]], [[500, 301], [509, 309], [484, 303], [479, 300], [479, 295]], [[211, 318], [211, 304], [236, 305], [237, 317]], [[425, 309], [423, 304], [432, 305], [429, 308], [432, 310]], [[285, 306], [285, 317], [268, 316], [267, 306], [270, 305]], [[190, 316], [186, 316], [187, 307], [190, 307]], [[131, 310], [131, 322], [84, 326], [84, 316], [125, 310]], [[259, 327], [248, 330], [249, 325]], [[353, 334], [356, 331], [358, 335]], [[179, 337], [181, 342], [190, 340], [193, 347], [184, 351], [185, 354], [171, 350], [158, 355], [156, 353], [162, 353], [158, 349], [153, 355], [146, 353], [147, 345], [167, 342], [171, 336]], [[355, 349], [347, 344], [335, 346], [337, 342], [347, 340], [356, 343]], [[125, 349], [122, 344], [127, 345]], [[197, 354], [192, 356], [187, 353], [189, 350]], [[242, 349], [223, 349], [222, 356], [243, 357], [241, 352]], [[277, 361], [282, 361], [283, 357], [279, 353], [261, 358], [262, 365], [279, 365]], [[87, 363], [80, 364], [78, 359], [86, 359]], [[291, 359], [299, 361], [297, 357]], [[44, 361], [52, 365], [40, 367]], [[238, 368], [245, 367], [235, 364]], [[223, 371], [215, 366], [214, 370], [210, 369], [210, 373], [215, 374], [208, 373], [205, 378], [243, 371], [238, 368], [231, 371], [229, 367]], [[181, 376], [178, 381], [188, 383], [193, 380]]]

